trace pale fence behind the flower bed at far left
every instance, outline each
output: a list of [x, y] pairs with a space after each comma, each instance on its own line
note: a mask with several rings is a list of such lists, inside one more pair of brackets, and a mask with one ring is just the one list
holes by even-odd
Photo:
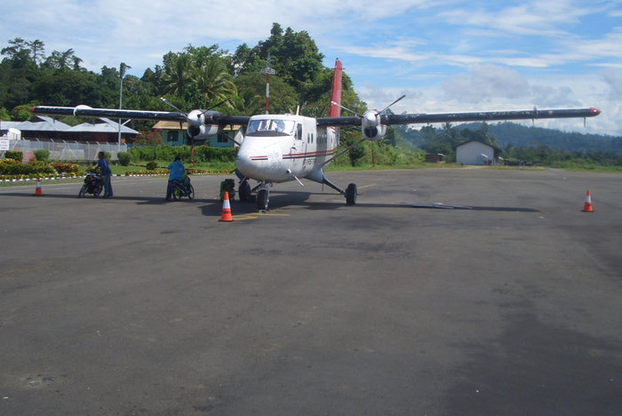
[[[3, 138], [6, 140], [6, 138]], [[108, 152], [111, 160], [118, 160], [118, 152], [126, 152], [127, 145], [116, 143], [89, 143], [78, 141], [40, 141], [40, 140], [8, 140], [9, 150], [22, 152], [24, 160], [34, 157], [35, 150], [47, 150], [50, 152], [49, 160], [67, 161], [93, 161], [97, 154]], [[4, 157], [4, 150], [0, 151], [0, 158]]]

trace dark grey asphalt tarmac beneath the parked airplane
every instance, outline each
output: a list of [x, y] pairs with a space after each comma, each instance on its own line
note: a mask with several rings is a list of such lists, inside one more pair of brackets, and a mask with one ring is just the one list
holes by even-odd
[[622, 412], [622, 175], [328, 176], [0, 188], [0, 414]]

